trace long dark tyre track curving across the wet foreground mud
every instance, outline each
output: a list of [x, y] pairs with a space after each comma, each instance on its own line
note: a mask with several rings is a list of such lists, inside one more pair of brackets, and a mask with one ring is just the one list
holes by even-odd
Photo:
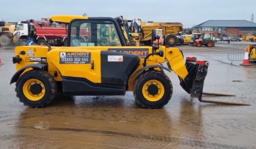
[[[23, 129], [36, 129], [35, 127], [30, 127], [30, 126], [16, 126], [16, 127], [23, 128]], [[179, 137], [169, 137], [169, 136], [161, 136], [161, 135], [126, 133], [126, 132], [97, 130], [97, 129], [74, 129], [74, 128], [57, 128], [57, 127], [49, 127], [47, 128], [47, 130], [74, 132], [74, 133], [97, 133], [97, 134], [111, 135], [111, 136], [133, 137], [133, 138], [143, 139], [144, 141], [154, 142], [157, 144], [174, 143], [174, 144], [179, 144], [179, 145], [184, 145], [189, 147], [200, 147], [200, 148], [248, 149], [247, 147], [241, 147], [237, 145], [211, 143], [211, 142], [202, 141], [202, 140], [183, 139]], [[71, 133], [69, 134], [71, 135]], [[8, 137], [12, 137], [12, 136], [8, 136]], [[0, 136], [0, 139], [2, 139], [1, 136]]]

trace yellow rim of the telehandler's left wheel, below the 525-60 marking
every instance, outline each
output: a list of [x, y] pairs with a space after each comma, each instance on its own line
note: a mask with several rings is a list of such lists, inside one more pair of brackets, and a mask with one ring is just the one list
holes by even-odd
[[[41, 91], [39, 93], [33, 94], [30, 89], [35, 84], [39, 84], [41, 86]], [[37, 86], [39, 86], [39, 85], [37, 85]], [[25, 82], [23, 85], [23, 94], [29, 100], [32, 100], [32, 101], [40, 100], [45, 95], [45, 86], [41, 81], [39, 81], [37, 79], [30, 79], [27, 82]]]

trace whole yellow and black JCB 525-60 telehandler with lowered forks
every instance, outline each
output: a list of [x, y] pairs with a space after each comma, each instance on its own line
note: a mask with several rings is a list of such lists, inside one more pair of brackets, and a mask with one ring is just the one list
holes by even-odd
[[[163, 69], [175, 72], [183, 89], [201, 102], [223, 103], [201, 98], [209, 62], [189, 57], [184, 62], [182, 52], [175, 47], [127, 46], [121, 18], [61, 15], [51, 19], [68, 24], [70, 47], [15, 48], [13, 63], [17, 72], [10, 83], [16, 82], [17, 97], [24, 105], [47, 106], [57, 90], [75, 96], [125, 95], [126, 91], [133, 91], [141, 106], [159, 108], [168, 103], [173, 93], [171, 80]], [[90, 29], [87, 40], [80, 40], [81, 28]], [[107, 32], [101, 28], [107, 28]], [[109, 35], [106, 46], [100, 46], [102, 34]], [[17, 39], [19, 33], [12, 40]], [[152, 30], [152, 41], [158, 39]], [[166, 59], [168, 67], [161, 65]]]

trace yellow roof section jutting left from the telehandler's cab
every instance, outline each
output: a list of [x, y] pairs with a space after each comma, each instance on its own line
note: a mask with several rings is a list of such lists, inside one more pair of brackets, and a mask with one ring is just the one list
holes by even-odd
[[74, 19], [88, 19], [88, 16], [75, 16], [75, 15], [54, 15], [51, 20], [55, 22], [70, 23]]

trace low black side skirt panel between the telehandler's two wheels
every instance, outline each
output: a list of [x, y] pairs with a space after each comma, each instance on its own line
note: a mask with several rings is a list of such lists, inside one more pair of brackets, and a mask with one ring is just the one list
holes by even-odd
[[125, 95], [125, 85], [93, 83], [84, 78], [62, 77], [64, 95]]

